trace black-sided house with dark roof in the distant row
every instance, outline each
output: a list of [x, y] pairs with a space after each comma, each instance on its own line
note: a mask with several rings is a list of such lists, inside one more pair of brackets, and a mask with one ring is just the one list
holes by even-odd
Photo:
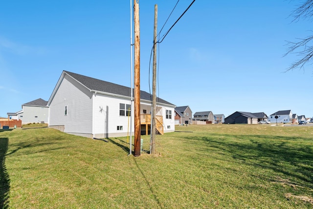
[[225, 117], [225, 124], [258, 124], [258, 116], [248, 112], [235, 112]]

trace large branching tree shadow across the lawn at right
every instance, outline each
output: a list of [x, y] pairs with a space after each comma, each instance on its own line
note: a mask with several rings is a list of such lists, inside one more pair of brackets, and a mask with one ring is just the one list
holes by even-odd
[[[191, 143], [204, 141], [204, 152], [223, 151], [239, 163], [263, 167], [298, 179], [313, 188], [313, 142], [301, 137], [262, 135], [222, 135], [187, 138]], [[269, 178], [269, 177], [268, 177]], [[272, 180], [272, 179], [268, 179]], [[300, 182], [298, 182], [301, 185]]]

